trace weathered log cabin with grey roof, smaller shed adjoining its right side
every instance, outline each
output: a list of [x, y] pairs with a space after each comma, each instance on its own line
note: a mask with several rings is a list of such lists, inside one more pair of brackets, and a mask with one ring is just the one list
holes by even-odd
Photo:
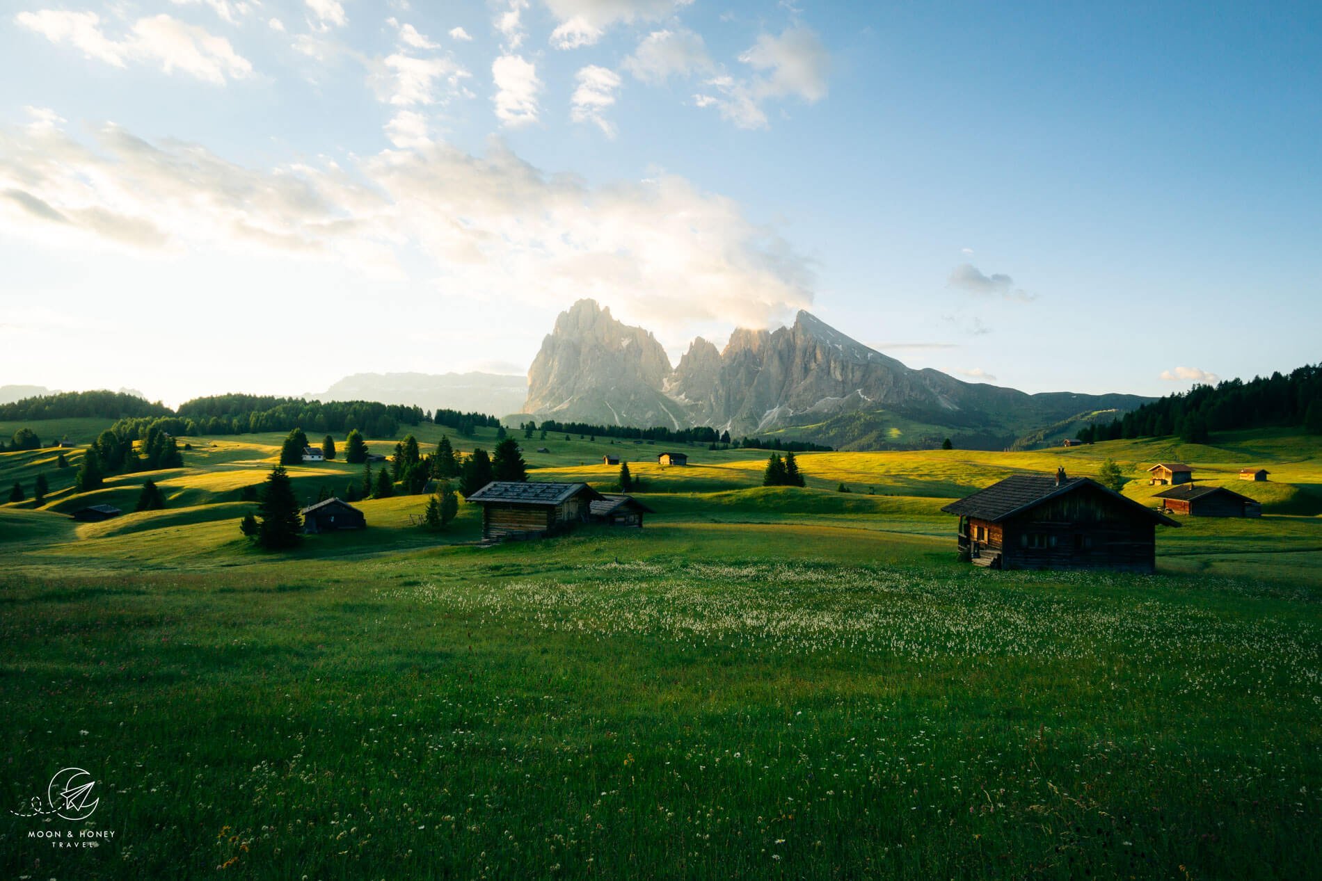
[[483, 506], [483, 538], [533, 539], [586, 523], [602, 494], [587, 483], [492, 481], [468, 497]]

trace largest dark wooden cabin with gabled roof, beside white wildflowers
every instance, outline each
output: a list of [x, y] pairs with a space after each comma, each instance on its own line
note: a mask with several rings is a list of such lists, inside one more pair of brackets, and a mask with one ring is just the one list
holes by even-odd
[[1087, 477], [1017, 474], [941, 509], [960, 553], [998, 569], [1153, 572], [1157, 526], [1179, 526]]

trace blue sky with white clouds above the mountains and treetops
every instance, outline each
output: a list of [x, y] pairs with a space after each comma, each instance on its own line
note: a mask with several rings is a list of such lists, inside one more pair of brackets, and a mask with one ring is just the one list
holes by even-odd
[[806, 309], [1162, 395], [1322, 361], [1322, 4], [7, 0], [0, 384], [672, 362]]

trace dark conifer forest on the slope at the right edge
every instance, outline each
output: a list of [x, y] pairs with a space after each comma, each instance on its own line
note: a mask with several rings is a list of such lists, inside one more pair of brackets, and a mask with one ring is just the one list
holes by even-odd
[[1191, 444], [1207, 442], [1214, 431], [1247, 428], [1303, 428], [1322, 435], [1322, 363], [1288, 375], [1224, 379], [1216, 386], [1194, 386], [1132, 409], [1107, 424], [1079, 432], [1091, 444], [1104, 440], [1178, 435]]

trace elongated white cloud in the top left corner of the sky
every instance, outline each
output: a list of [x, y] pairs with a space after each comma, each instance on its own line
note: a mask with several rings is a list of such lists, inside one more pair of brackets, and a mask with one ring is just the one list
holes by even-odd
[[253, 65], [234, 52], [230, 41], [167, 15], [139, 18], [122, 40], [107, 37], [91, 12], [22, 12], [15, 21], [52, 42], [67, 42], [89, 58], [115, 67], [127, 62], [160, 65], [167, 73], [189, 74], [223, 86], [251, 75]]

